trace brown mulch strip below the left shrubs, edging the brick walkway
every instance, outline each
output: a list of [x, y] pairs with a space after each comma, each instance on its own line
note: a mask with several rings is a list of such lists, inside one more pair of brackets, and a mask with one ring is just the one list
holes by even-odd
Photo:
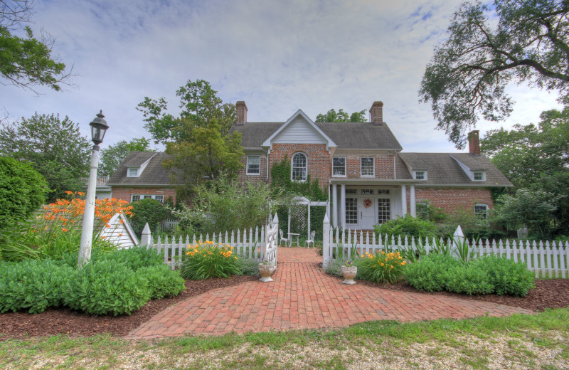
[[125, 335], [132, 329], [139, 327], [143, 322], [148, 321], [154, 314], [174, 305], [176, 302], [218, 287], [238, 285], [258, 278], [258, 276], [243, 275], [232, 276], [230, 279], [215, 278], [186, 281], [186, 290], [176, 297], [151, 300], [130, 316], [95, 316], [68, 308], [50, 309], [40, 314], [29, 314], [27, 312], [0, 314], [0, 340], [45, 337], [55, 334], [64, 334], [70, 337], [88, 337], [102, 333]]

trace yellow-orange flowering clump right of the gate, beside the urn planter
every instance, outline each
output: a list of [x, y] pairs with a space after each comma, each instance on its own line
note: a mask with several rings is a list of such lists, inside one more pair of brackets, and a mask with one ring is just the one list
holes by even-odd
[[405, 260], [399, 252], [385, 253], [383, 250], [376, 254], [366, 253], [356, 260], [358, 276], [372, 282], [398, 282], [403, 275]]

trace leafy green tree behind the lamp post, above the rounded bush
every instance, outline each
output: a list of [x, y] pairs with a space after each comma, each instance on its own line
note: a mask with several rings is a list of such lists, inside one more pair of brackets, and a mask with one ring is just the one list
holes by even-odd
[[38, 115], [0, 126], [0, 154], [29, 162], [50, 188], [48, 201], [78, 191], [87, 176], [91, 144], [68, 117]]

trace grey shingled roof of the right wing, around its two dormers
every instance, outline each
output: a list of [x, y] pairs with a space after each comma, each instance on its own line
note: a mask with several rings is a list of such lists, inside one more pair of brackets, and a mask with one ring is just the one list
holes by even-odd
[[[410, 169], [427, 169], [427, 180], [418, 185], [512, 186], [499, 169], [482, 155], [469, 153], [399, 153]], [[472, 181], [457, 160], [470, 169], [485, 169], [486, 181]], [[463, 162], [464, 161], [464, 162]]]

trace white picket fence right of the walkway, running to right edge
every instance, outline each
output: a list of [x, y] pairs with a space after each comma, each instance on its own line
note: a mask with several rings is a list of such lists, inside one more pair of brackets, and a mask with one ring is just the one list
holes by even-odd
[[[324, 218], [324, 250], [323, 265], [328, 265], [335, 258], [351, 258], [353, 253], [376, 253], [377, 250], [403, 251], [419, 249], [429, 253], [443, 243], [435, 238], [415, 240], [415, 238], [401, 238], [400, 236], [376, 236], [373, 232], [332, 230], [327, 217]], [[457, 229], [458, 231], [458, 229]], [[460, 231], [462, 233], [462, 231]], [[467, 243], [471, 255], [498, 255], [524, 262], [528, 270], [533, 271], [536, 277], [541, 278], [567, 278], [569, 277], [569, 242], [513, 240], [502, 242], [499, 240], [464, 240], [464, 237], [455, 233], [454, 240]], [[445, 243], [447, 248], [456, 255], [457, 243], [449, 238]]]

